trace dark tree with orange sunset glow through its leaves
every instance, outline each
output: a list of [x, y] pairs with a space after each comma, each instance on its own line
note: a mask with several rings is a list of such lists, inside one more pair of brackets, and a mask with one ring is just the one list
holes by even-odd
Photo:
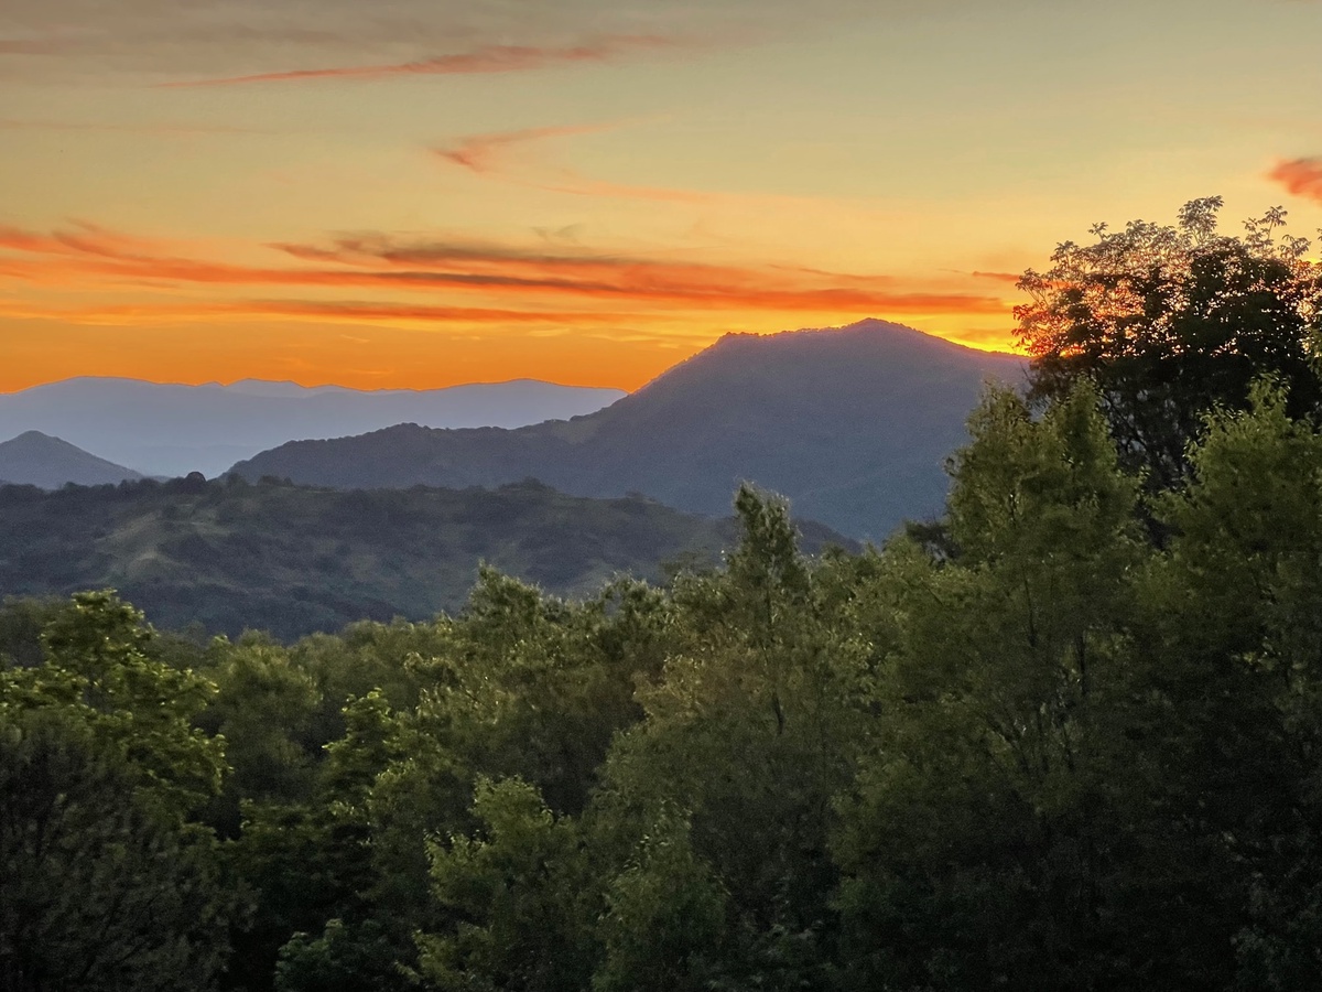
[[1019, 282], [1031, 298], [1015, 317], [1032, 398], [1092, 380], [1122, 466], [1153, 489], [1185, 477], [1202, 415], [1247, 409], [1259, 376], [1289, 384], [1292, 415], [1322, 401], [1322, 269], [1303, 258], [1309, 242], [1277, 237], [1280, 208], [1243, 237], [1218, 234], [1220, 206], [1194, 200], [1175, 226], [1096, 225], [1093, 243], [1062, 243], [1047, 271]]

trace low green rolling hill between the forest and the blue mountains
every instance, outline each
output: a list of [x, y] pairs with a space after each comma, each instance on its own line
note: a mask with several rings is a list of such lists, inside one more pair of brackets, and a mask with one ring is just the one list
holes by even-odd
[[[849, 542], [800, 524], [808, 550]], [[361, 619], [459, 608], [477, 563], [562, 595], [662, 562], [719, 559], [731, 518], [632, 496], [498, 489], [319, 489], [239, 479], [40, 492], [0, 487], [0, 597], [112, 586], [164, 627], [292, 639]]]

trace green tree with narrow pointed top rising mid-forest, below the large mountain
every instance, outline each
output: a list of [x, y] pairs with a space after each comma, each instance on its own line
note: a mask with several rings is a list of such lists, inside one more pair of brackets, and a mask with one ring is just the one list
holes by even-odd
[[611, 905], [603, 989], [825, 981], [832, 799], [867, 733], [869, 648], [785, 501], [746, 485], [735, 511], [727, 567], [672, 591], [673, 651], [584, 817]]

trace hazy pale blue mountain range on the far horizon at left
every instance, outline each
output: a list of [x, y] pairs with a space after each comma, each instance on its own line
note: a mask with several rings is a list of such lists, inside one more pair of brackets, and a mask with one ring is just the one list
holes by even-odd
[[520, 427], [591, 413], [621, 395], [619, 389], [535, 380], [357, 390], [262, 380], [181, 386], [70, 378], [0, 394], [0, 436], [38, 430], [148, 475], [218, 475], [234, 462], [287, 440], [337, 438], [405, 422]]

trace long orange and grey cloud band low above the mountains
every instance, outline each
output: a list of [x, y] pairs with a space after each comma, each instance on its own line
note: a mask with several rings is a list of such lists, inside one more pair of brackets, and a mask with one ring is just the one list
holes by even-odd
[[[250, 265], [172, 253], [147, 238], [90, 224], [34, 233], [0, 229], [0, 274], [33, 287], [83, 291], [132, 290], [196, 292], [205, 287], [283, 287], [290, 290], [370, 290], [381, 306], [399, 294], [440, 298], [434, 317], [459, 319], [459, 298], [484, 298], [483, 307], [541, 313], [547, 303], [578, 321], [591, 307], [615, 316], [660, 312], [742, 310], [871, 316], [887, 313], [1006, 313], [998, 296], [944, 288], [898, 287], [887, 276], [832, 274], [759, 265], [710, 265], [669, 258], [591, 254], [582, 250], [529, 250], [508, 245], [398, 241], [386, 235], [340, 238], [329, 245], [275, 245], [293, 262]], [[489, 300], [490, 303], [486, 303]], [[584, 304], [591, 307], [584, 311]], [[205, 304], [193, 304], [205, 308]], [[215, 304], [233, 306], [223, 300]], [[263, 304], [276, 312], [276, 304]], [[301, 304], [300, 304], [301, 306]], [[366, 304], [364, 304], [366, 306]], [[402, 306], [402, 304], [401, 304]], [[410, 307], [414, 304], [410, 303]], [[448, 308], [448, 310], [447, 310]], [[416, 308], [415, 308], [416, 310]], [[419, 311], [420, 312], [420, 311]], [[448, 316], [447, 316], [448, 313]], [[389, 319], [387, 311], [378, 313]], [[366, 316], [364, 317], [366, 319]]]

